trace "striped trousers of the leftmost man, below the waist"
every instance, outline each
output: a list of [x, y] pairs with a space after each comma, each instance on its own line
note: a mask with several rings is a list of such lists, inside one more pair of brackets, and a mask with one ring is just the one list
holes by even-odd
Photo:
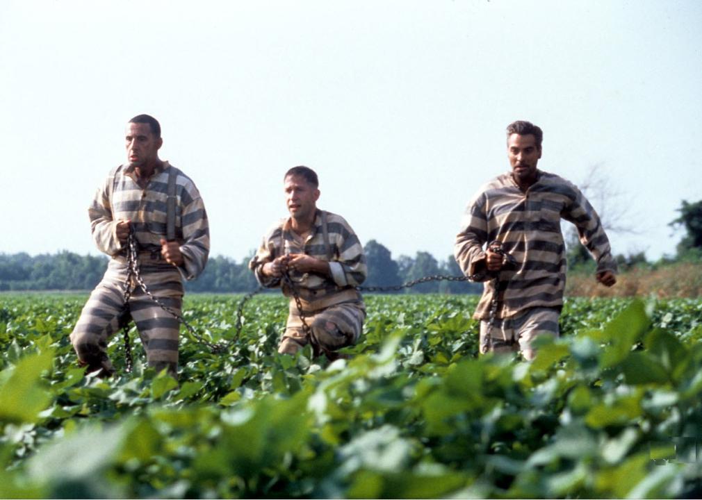
[[[180, 314], [183, 282], [178, 269], [158, 259], [140, 258], [140, 273], [150, 292], [164, 306]], [[70, 335], [79, 363], [88, 370], [114, 372], [107, 357], [107, 342], [129, 317], [123, 317], [127, 267], [124, 259], [111, 259], [105, 276], [90, 295]], [[180, 324], [152, 301], [143, 290], [132, 287], [128, 315], [134, 320], [147, 362], [157, 371], [164, 368], [176, 377]], [[124, 323], [122, 323], [124, 322]]]

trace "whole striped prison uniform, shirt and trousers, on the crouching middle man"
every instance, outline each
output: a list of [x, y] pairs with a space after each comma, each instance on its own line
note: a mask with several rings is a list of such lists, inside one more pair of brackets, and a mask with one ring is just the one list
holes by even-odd
[[[294, 253], [305, 253], [329, 262], [331, 276], [289, 270], [313, 339], [305, 338], [292, 290], [281, 283], [280, 278], [261, 273], [263, 264]], [[314, 227], [304, 240], [293, 231], [290, 219], [282, 219], [263, 238], [249, 267], [256, 273], [260, 285], [267, 288], [282, 286], [283, 294], [290, 297], [289, 316], [279, 353], [295, 353], [309, 342], [323, 351], [336, 351], [358, 341], [366, 308], [355, 287], [366, 279], [366, 257], [358, 237], [343, 217], [317, 210]]]

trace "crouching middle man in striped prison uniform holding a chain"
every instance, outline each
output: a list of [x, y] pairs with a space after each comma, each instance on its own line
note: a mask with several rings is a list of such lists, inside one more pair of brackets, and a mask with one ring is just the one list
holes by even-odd
[[[316, 354], [335, 359], [334, 351], [354, 344], [361, 335], [366, 309], [355, 287], [366, 278], [366, 257], [345, 219], [317, 208], [318, 187], [311, 168], [288, 170], [284, 192], [290, 217], [268, 231], [249, 266], [261, 285], [282, 287], [291, 297], [278, 352], [293, 354], [312, 344]], [[299, 295], [308, 335], [283, 273]]]

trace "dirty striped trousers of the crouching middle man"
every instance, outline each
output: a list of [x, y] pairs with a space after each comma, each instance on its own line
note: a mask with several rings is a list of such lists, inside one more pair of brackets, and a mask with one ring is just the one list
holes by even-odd
[[366, 311], [362, 303], [343, 302], [321, 311], [305, 314], [312, 339], [305, 337], [297, 309], [290, 309], [285, 333], [278, 347], [279, 353], [293, 354], [312, 341], [322, 351], [336, 351], [355, 344], [363, 330]]

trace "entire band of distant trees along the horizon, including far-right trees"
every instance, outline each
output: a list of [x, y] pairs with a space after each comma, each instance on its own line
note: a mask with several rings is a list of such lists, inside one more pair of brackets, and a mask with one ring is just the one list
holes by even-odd
[[[673, 228], [684, 229], [685, 235], [677, 245], [675, 257], [664, 257], [661, 262], [702, 262], [702, 200], [695, 203], [682, 201], [680, 217], [670, 222]], [[587, 250], [578, 243], [577, 233], [567, 234], [568, 267], [574, 271], [592, 271], [595, 262]], [[392, 259], [390, 250], [376, 240], [364, 246], [368, 261], [368, 278], [365, 286], [400, 285], [423, 276], [462, 276], [461, 269], [449, 255], [439, 262], [428, 252], [417, 252], [414, 257], [400, 255]], [[651, 266], [644, 252], [635, 255], [617, 255], [620, 271], [636, 266]], [[105, 273], [107, 257], [77, 255], [62, 251], [53, 255], [30, 256], [27, 253], [6, 255], [0, 253], [1, 290], [91, 290]], [[229, 257], [212, 257], [207, 267], [195, 281], [185, 283], [190, 292], [249, 292], [257, 286], [249, 270], [249, 258], [237, 262]], [[401, 292], [419, 293], [479, 293], [482, 285], [465, 281], [432, 281], [421, 283]]]

